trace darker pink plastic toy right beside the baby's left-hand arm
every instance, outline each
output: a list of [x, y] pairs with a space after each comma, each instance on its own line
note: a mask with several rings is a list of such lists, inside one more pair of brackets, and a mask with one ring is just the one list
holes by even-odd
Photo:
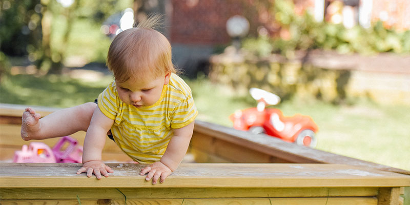
[[[68, 147], [64, 149], [65, 144]], [[78, 142], [70, 136], [58, 140], [53, 147], [53, 153], [58, 163], [81, 163], [83, 158], [83, 147], [77, 146]]]

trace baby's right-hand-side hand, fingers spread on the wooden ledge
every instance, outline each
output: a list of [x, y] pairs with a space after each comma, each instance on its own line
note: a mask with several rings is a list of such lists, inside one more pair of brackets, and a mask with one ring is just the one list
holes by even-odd
[[165, 179], [172, 173], [172, 171], [162, 162], [157, 161], [148, 167], [142, 168], [139, 175], [145, 175], [147, 173], [148, 175], [145, 180], [149, 181], [152, 178], [152, 184], [156, 185], [159, 177], [161, 177], [161, 180], [159, 182], [163, 183]]

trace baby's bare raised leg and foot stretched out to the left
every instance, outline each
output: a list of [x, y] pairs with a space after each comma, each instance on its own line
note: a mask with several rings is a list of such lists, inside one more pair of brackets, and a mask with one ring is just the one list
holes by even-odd
[[22, 138], [47, 139], [87, 131], [96, 107], [95, 103], [86, 103], [58, 110], [41, 119], [34, 109], [26, 108], [22, 118]]

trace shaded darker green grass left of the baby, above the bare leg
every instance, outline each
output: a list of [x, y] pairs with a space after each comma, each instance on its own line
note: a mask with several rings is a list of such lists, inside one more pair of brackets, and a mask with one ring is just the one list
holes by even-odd
[[110, 83], [105, 81], [84, 83], [59, 75], [8, 75], [1, 81], [0, 103], [71, 107], [94, 101]]

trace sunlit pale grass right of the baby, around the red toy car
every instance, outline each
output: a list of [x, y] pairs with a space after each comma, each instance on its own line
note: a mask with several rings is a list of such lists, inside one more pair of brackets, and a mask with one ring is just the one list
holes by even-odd
[[[236, 96], [207, 80], [189, 82], [197, 119], [231, 127], [229, 115], [237, 109], [256, 106], [251, 96]], [[351, 106], [337, 106], [321, 101], [284, 101], [276, 108], [284, 115], [311, 116], [319, 127], [316, 149], [410, 170], [410, 106], [382, 106], [359, 101]]]

